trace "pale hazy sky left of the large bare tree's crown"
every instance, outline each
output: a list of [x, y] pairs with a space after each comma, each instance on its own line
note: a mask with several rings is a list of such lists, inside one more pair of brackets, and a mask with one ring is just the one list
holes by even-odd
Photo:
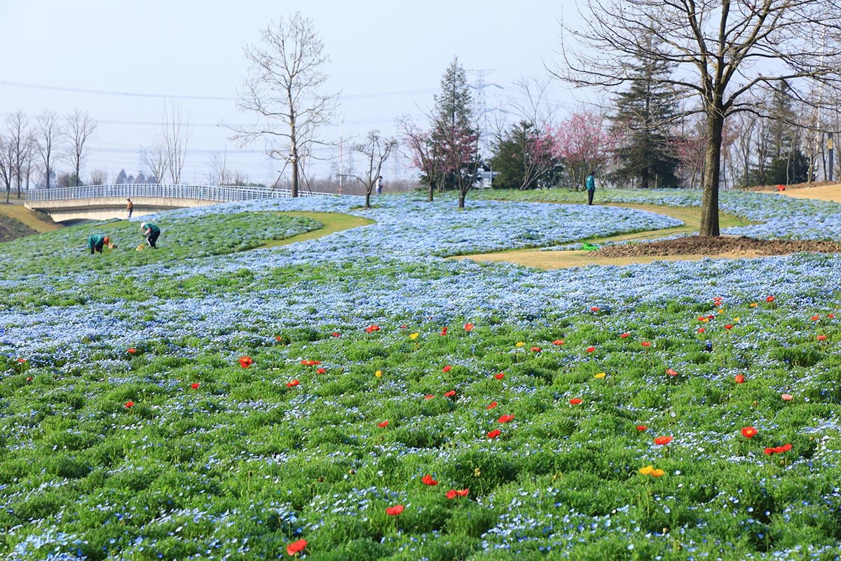
[[[220, 124], [253, 121], [235, 106], [247, 69], [243, 46], [296, 10], [315, 24], [331, 59], [329, 89], [341, 91], [344, 123], [320, 134], [336, 142], [372, 129], [394, 134], [403, 114], [426, 124], [423, 111], [454, 56], [470, 82], [484, 76], [486, 108], [500, 107], [516, 95], [517, 78], [547, 77], [546, 66], [558, 60], [558, 21], [578, 13], [572, 0], [0, 0], [0, 118], [20, 109], [34, 123], [45, 109], [87, 111], [98, 129], [84, 181], [94, 168], [109, 177], [121, 168], [148, 172], [140, 148], [160, 134], [163, 105], [173, 100], [191, 130], [182, 183], [206, 183], [214, 155], [225, 153], [229, 168], [272, 183], [283, 162], [268, 159], [262, 145], [229, 140]], [[584, 96], [553, 84], [563, 110], [579, 108]], [[321, 155], [337, 160], [339, 149]], [[329, 169], [321, 164], [309, 175]], [[414, 172], [394, 161], [386, 173]]]

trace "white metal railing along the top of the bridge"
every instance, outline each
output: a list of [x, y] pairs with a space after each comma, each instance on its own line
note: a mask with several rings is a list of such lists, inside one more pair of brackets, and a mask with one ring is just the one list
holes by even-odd
[[[300, 197], [325, 197], [333, 193], [312, 193], [299, 189]], [[225, 185], [159, 185], [156, 183], [123, 183], [119, 185], [82, 185], [54, 189], [29, 189], [27, 202], [72, 200], [75, 198], [156, 197], [193, 198], [214, 203], [250, 201], [257, 198], [290, 198], [289, 189], [270, 187], [227, 187]]]

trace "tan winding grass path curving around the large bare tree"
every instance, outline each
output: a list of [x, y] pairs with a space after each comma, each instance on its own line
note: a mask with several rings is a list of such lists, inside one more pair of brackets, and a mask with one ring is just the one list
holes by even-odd
[[[701, 224], [701, 207], [662, 207], [656, 204], [611, 204], [610, 206], [621, 206], [627, 209], [648, 210], [656, 214], [665, 214], [678, 220], [683, 220], [684, 225], [661, 230], [646, 230], [633, 234], [621, 236], [590, 238], [590, 243], [600, 244], [606, 241], [642, 241], [653, 238], [675, 236], [679, 234], [694, 234]], [[720, 212], [718, 215], [719, 225], [722, 229], [733, 226], [748, 225], [746, 220], [739, 219], [733, 214]], [[584, 242], [584, 240], [582, 240]], [[631, 263], [650, 263], [653, 261], [687, 261], [699, 260], [702, 255], [669, 255], [652, 257], [595, 257], [593, 251], [570, 250], [570, 251], [541, 251], [539, 249], [521, 249], [500, 251], [496, 253], [481, 253], [477, 255], [465, 255], [452, 257], [453, 259], [473, 259], [473, 261], [511, 262], [526, 267], [539, 269], [561, 269], [568, 267], [586, 267], [587, 265], [629, 265]], [[717, 256], [720, 258], [753, 257], [746, 255]]]

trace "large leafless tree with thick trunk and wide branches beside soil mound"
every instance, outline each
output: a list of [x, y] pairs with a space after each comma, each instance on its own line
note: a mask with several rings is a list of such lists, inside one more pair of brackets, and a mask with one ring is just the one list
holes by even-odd
[[[718, 236], [722, 132], [739, 111], [767, 114], [752, 93], [787, 82], [806, 99], [817, 82], [841, 87], [841, 3], [838, 0], [588, 0], [584, 24], [563, 25], [563, 64], [553, 74], [576, 86], [613, 88], [632, 81], [645, 60], [673, 65], [659, 86], [685, 88], [705, 120], [701, 236]], [[653, 14], [656, 14], [653, 15]], [[655, 37], [650, 44], [645, 37]], [[650, 45], [648, 47], [647, 45]], [[827, 96], [831, 98], [832, 96]], [[808, 103], [826, 105], [816, 99]]]

